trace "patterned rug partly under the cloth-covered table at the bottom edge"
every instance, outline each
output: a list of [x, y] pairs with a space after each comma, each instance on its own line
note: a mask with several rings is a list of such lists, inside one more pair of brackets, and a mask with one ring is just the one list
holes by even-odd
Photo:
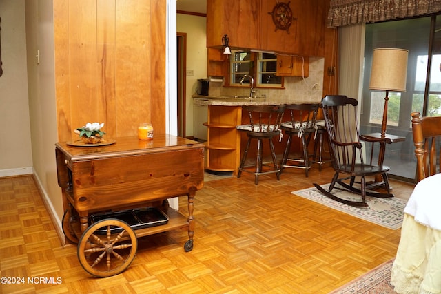
[[393, 259], [384, 264], [380, 264], [375, 269], [368, 271], [365, 275], [357, 277], [355, 280], [332, 291], [329, 294], [392, 294], [396, 293], [391, 285]]

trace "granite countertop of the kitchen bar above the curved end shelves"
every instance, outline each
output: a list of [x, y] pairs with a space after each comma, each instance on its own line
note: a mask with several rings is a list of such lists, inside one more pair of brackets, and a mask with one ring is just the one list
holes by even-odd
[[256, 96], [250, 99], [245, 96], [201, 96], [193, 95], [193, 103], [196, 105], [220, 105], [220, 106], [242, 106], [242, 105], [265, 105], [273, 104], [266, 101], [263, 96]]

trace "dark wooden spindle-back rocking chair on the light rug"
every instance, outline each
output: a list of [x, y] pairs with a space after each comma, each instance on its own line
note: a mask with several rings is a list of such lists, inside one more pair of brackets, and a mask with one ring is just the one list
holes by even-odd
[[[314, 183], [314, 186], [325, 196], [338, 202], [356, 207], [367, 207], [366, 196], [387, 198], [393, 197], [393, 194], [390, 193], [387, 179], [389, 167], [364, 162], [357, 121], [357, 103], [356, 99], [340, 95], [326, 96], [322, 99], [323, 115], [325, 116], [325, 124], [334, 156], [334, 170], [336, 173], [332, 178], [328, 191], [318, 184]], [[345, 174], [345, 176], [339, 178], [340, 174]], [[366, 191], [369, 186], [365, 177], [378, 174], [382, 175], [384, 179], [387, 193]], [[360, 182], [356, 182], [356, 178], [360, 178]], [[345, 180], [349, 180], [349, 183], [344, 182]], [[331, 191], [336, 183], [352, 193], [360, 194], [362, 201], [346, 200], [333, 195]], [[360, 187], [354, 187], [355, 183], [360, 184]]]

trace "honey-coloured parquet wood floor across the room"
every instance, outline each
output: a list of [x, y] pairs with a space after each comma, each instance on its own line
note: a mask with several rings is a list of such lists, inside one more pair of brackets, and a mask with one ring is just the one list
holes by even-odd
[[[24, 278], [1, 293], [329, 293], [396, 254], [393, 231], [291, 195], [325, 184], [333, 169], [205, 182], [196, 193], [194, 249], [186, 231], [139, 239], [114, 277], [88, 275], [76, 246], [61, 246], [32, 176], [0, 178], [0, 273]], [[413, 185], [392, 182], [393, 193]], [[180, 200], [185, 213], [186, 199]], [[30, 280], [28, 280], [30, 278]], [[43, 280], [39, 280], [43, 278]], [[44, 280], [45, 279], [45, 280]]]

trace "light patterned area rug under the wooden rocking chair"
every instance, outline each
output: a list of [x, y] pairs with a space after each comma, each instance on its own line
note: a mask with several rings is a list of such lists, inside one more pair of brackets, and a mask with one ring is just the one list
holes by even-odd
[[[327, 190], [329, 188], [329, 184], [322, 185], [321, 187]], [[342, 191], [338, 188], [339, 185], [337, 184], [332, 190], [334, 195], [351, 201], [361, 201], [360, 195]], [[350, 205], [332, 200], [331, 198], [320, 193], [316, 187], [294, 191], [291, 193], [393, 230], [401, 227], [402, 220], [404, 218], [403, 210], [407, 203], [406, 200], [396, 197], [376, 198], [366, 196], [366, 202], [369, 205], [368, 207], [352, 207]]]

